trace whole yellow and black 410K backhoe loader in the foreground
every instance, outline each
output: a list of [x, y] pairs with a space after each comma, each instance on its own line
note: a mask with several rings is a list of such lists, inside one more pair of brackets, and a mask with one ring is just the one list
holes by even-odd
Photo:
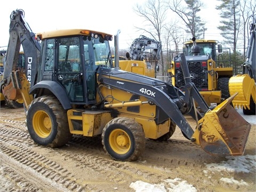
[[[77, 135], [101, 136], [111, 158], [135, 161], [146, 138], [167, 140], [178, 126], [185, 138], [207, 153], [244, 154], [251, 124], [229, 105], [236, 94], [209, 108], [191, 82], [184, 54], [180, 61], [185, 93], [159, 79], [121, 70], [119, 33], [114, 36], [114, 67], [110, 34], [69, 29], [35, 36], [23, 10], [13, 11], [10, 18], [1, 89], [9, 100], [23, 98], [28, 132], [38, 145], [54, 148]], [[13, 60], [19, 57], [21, 44], [25, 68], [17, 70]], [[195, 129], [185, 115], [197, 121]]]

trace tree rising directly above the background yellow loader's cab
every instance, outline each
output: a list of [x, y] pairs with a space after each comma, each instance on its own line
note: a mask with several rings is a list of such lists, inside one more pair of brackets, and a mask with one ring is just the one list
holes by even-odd
[[187, 4], [185, 7], [182, 2], [182, 0], [172, 0], [169, 1], [168, 6], [185, 22], [186, 33], [201, 38], [206, 29], [204, 28], [205, 23], [201, 21], [201, 17], [197, 16], [197, 13], [201, 11], [200, 7], [203, 6], [203, 3], [200, 0], [185, 0], [184, 2]]

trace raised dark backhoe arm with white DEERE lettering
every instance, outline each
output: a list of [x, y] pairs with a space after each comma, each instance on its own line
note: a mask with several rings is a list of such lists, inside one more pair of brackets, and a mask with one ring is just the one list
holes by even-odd
[[[25, 56], [25, 73], [31, 85], [35, 84], [37, 71], [37, 50], [41, 45], [35, 41], [35, 34], [31, 31], [24, 19], [23, 10], [13, 11], [10, 15], [10, 38], [7, 46], [6, 63], [4, 67], [4, 84], [9, 85], [11, 72], [17, 70], [20, 46], [22, 45]], [[2, 85], [2, 83], [1, 83]]]

